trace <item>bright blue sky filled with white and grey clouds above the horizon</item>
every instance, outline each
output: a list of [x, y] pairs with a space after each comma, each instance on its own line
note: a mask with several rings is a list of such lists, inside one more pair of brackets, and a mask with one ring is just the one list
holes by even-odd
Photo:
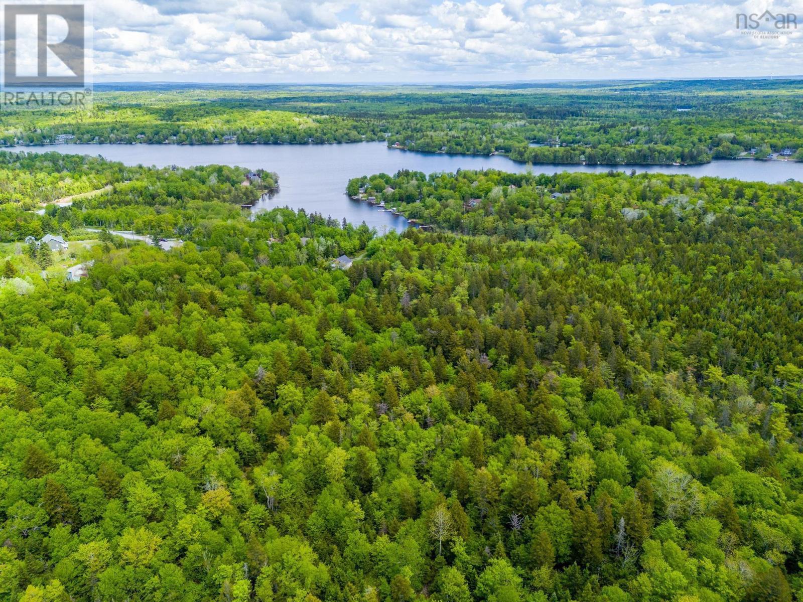
[[[439, 83], [800, 75], [800, 30], [736, 15], [783, 2], [102, 0], [96, 82]], [[764, 23], [760, 31], [771, 28]]]

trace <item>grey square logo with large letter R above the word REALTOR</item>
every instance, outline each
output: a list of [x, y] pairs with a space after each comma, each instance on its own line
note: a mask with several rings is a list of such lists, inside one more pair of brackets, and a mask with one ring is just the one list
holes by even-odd
[[3, 83], [84, 86], [84, 6], [6, 4]]

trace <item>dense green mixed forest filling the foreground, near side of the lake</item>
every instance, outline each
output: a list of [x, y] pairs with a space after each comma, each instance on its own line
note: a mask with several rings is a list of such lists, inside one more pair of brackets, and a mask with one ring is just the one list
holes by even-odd
[[0, 164], [2, 599], [801, 600], [800, 184]]

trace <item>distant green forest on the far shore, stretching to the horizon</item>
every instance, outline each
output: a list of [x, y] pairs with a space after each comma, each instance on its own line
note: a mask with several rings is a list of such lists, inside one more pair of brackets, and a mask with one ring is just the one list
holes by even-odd
[[[7, 108], [0, 144], [322, 144], [533, 163], [803, 158], [799, 80], [496, 87], [99, 87], [92, 108]], [[736, 85], [739, 84], [739, 85]], [[777, 158], [777, 157], [775, 157]]]

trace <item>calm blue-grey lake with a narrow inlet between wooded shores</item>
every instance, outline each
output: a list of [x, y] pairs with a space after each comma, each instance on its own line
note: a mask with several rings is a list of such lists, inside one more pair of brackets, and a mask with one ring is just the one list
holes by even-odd
[[[255, 210], [288, 206], [305, 209], [353, 224], [365, 222], [380, 233], [404, 230], [407, 221], [389, 211], [381, 211], [344, 194], [352, 177], [374, 173], [396, 173], [412, 169], [424, 173], [454, 172], [457, 169], [503, 169], [532, 173], [606, 172], [606, 165], [525, 165], [507, 157], [472, 157], [410, 153], [388, 148], [384, 142], [356, 144], [60, 144], [19, 147], [28, 152], [57, 151], [100, 155], [126, 165], [239, 165], [249, 169], [267, 169], [279, 174], [279, 193], [265, 198]], [[630, 172], [632, 165], [613, 169]], [[795, 161], [713, 161], [705, 165], [637, 165], [638, 173], [684, 173], [691, 176], [736, 177], [746, 181], [779, 182], [792, 177], [803, 181], [803, 163]]]

